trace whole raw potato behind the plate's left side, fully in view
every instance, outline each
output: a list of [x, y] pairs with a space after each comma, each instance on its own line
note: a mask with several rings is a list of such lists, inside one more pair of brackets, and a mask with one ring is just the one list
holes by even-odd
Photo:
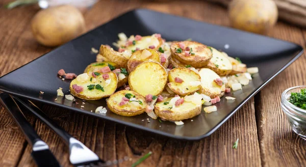
[[45, 46], [61, 45], [85, 31], [82, 13], [69, 5], [39, 11], [31, 26], [35, 39]]

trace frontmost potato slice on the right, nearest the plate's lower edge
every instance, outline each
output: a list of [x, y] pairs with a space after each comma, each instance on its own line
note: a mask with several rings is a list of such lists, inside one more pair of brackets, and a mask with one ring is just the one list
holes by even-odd
[[201, 105], [196, 105], [190, 101], [184, 101], [184, 103], [179, 106], [173, 106], [170, 102], [171, 99], [173, 99], [173, 97], [156, 103], [154, 111], [158, 117], [169, 121], [181, 121], [193, 118], [201, 113]]

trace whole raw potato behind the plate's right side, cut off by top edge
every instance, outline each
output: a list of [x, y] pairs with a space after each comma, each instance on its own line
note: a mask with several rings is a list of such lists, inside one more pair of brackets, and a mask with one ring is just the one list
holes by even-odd
[[277, 21], [277, 7], [272, 0], [233, 0], [229, 6], [234, 28], [266, 34]]

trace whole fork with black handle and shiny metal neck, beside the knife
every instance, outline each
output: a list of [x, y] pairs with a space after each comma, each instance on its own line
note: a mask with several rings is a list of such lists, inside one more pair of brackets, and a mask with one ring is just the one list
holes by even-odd
[[62, 127], [45, 115], [34, 103], [25, 99], [13, 97], [19, 107], [29, 110], [40, 121], [57, 133], [62, 140], [69, 146], [69, 160], [74, 166], [109, 166], [113, 162], [101, 160], [94, 152], [88, 149], [83, 143], [73, 138]]

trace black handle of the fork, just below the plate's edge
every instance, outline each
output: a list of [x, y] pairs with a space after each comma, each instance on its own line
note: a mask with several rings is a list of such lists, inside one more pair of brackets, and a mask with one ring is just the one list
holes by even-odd
[[35, 115], [41, 122], [45, 123], [47, 126], [49, 126], [52, 130], [57, 133], [64, 142], [66, 142], [67, 145], [69, 145], [69, 139], [72, 137], [69, 133], [67, 133], [62, 127], [60, 127], [56, 122], [54, 122], [52, 119], [50, 119], [46, 114], [42, 112], [36, 105], [29, 102], [26, 99], [19, 99], [17, 97], [13, 97], [13, 99], [16, 101], [16, 103], [19, 105], [19, 107], [22, 109], [27, 109], [29, 112]]

